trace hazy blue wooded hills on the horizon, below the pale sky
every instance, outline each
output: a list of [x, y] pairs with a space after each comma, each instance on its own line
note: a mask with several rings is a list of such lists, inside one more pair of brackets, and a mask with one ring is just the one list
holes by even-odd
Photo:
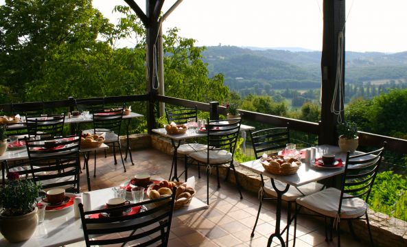
[[[236, 84], [236, 90], [253, 84], [270, 84], [274, 88], [277, 84], [288, 88], [306, 85], [305, 89], [321, 86], [321, 51], [216, 46], [207, 47], [202, 55], [209, 64], [209, 74], [223, 73], [225, 84]], [[347, 51], [345, 62], [348, 83], [407, 79], [407, 51], [396, 54]]]

